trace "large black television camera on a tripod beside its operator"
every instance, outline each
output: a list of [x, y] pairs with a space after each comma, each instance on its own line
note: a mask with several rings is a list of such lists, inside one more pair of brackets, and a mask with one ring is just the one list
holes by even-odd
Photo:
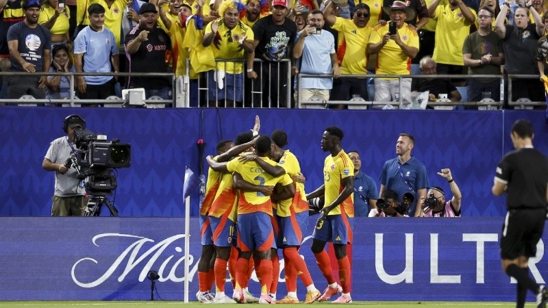
[[71, 150], [66, 168], [75, 168], [79, 185], [90, 195], [84, 216], [99, 216], [106, 205], [111, 216], [118, 216], [118, 210], [106, 196], [116, 189], [116, 168], [128, 168], [131, 163], [131, 145], [120, 140], [107, 141], [107, 136], [97, 135], [86, 129], [75, 130], [76, 149]]

